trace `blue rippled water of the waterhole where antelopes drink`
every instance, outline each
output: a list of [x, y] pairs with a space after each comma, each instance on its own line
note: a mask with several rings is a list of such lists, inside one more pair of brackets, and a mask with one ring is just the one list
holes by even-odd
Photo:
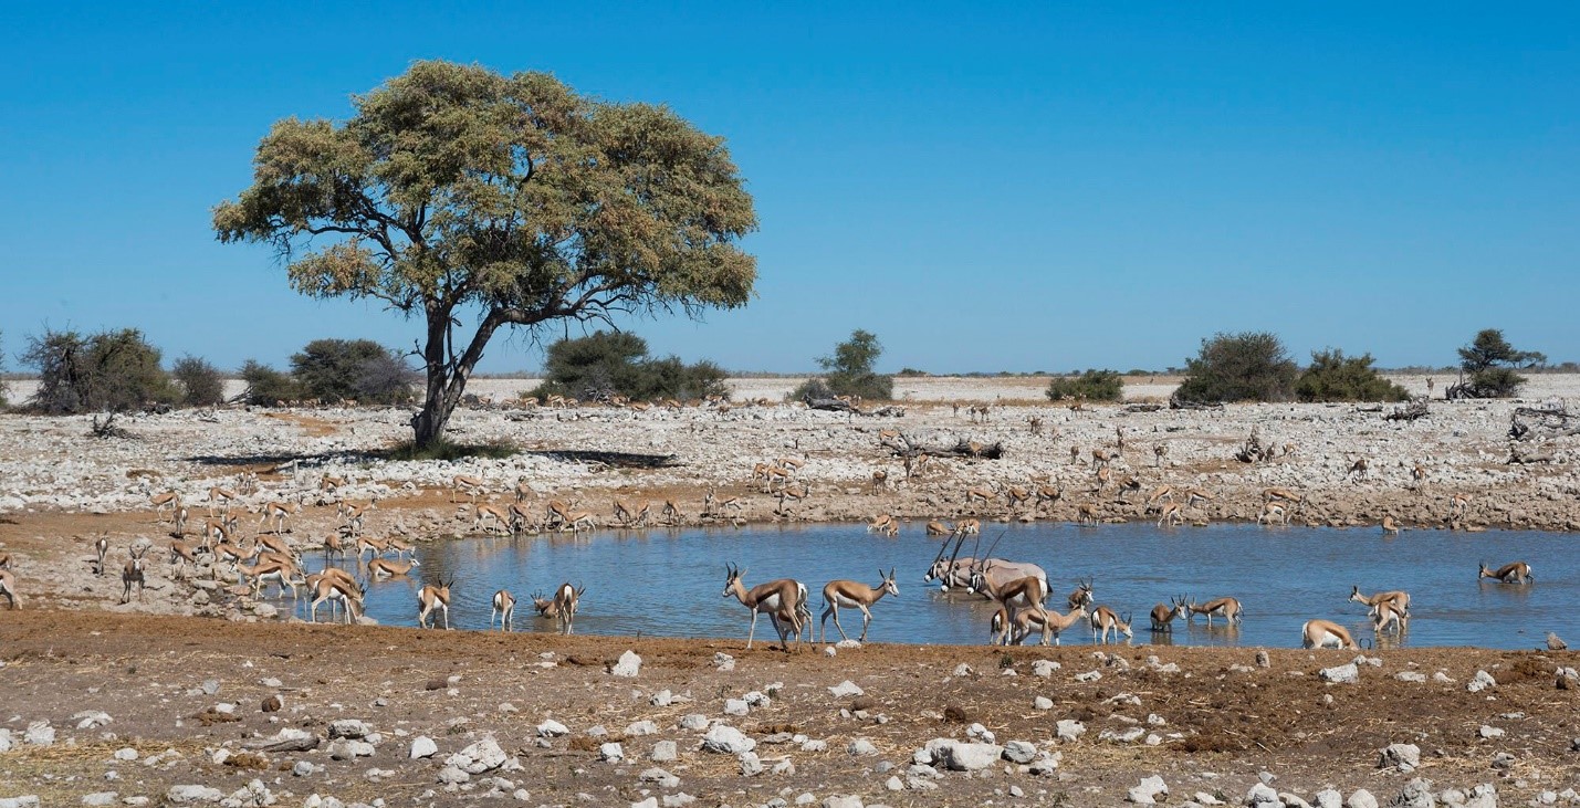
[[[1133, 644], [1275, 645], [1299, 644], [1300, 623], [1335, 620], [1378, 647], [1485, 645], [1533, 647], [1547, 631], [1580, 636], [1580, 554], [1564, 533], [1413, 530], [1384, 537], [1370, 529], [1332, 530], [1255, 526], [1177, 527], [1030, 524], [999, 526], [994, 556], [1033, 562], [1049, 573], [1049, 606], [1065, 611], [1065, 593], [1092, 579], [1097, 603], [1133, 612]], [[984, 543], [988, 544], [988, 543]], [[409, 576], [370, 581], [368, 614], [387, 625], [414, 625], [422, 584], [457, 579], [450, 622], [485, 630], [493, 593], [520, 601], [518, 628], [553, 630], [536, 617], [529, 597], [561, 582], [588, 589], [577, 631], [733, 638], [744, 642], [750, 615], [719, 598], [725, 563], [744, 567], [747, 587], [774, 578], [807, 585], [814, 619], [825, 608], [822, 587], [834, 578], [872, 584], [874, 570], [897, 570], [899, 597], [872, 606], [874, 642], [983, 644], [994, 608], [965, 592], [920, 584], [939, 541], [921, 522], [897, 538], [880, 538], [863, 526], [766, 526], [754, 529], [653, 529], [547, 537], [479, 537], [423, 544]], [[965, 554], [970, 552], [967, 546]], [[1381, 559], [1381, 560], [1379, 560]], [[1542, 574], [1529, 585], [1476, 579], [1480, 560], [1526, 560]], [[314, 559], [321, 567], [322, 560]], [[343, 565], [367, 578], [367, 559]], [[1364, 592], [1413, 593], [1408, 631], [1378, 638], [1362, 604]], [[1172, 620], [1172, 631], [1150, 631], [1157, 603], [1191, 595], [1198, 601], [1234, 597], [1240, 623], [1201, 615]], [[307, 617], [305, 601], [299, 611]], [[847, 614], [850, 617], [847, 617]], [[860, 611], [842, 609], [842, 620]], [[815, 620], [814, 620], [815, 623]], [[847, 623], [847, 631], [850, 625]], [[1090, 625], [1063, 631], [1063, 644], [1092, 641]], [[1033, 639], [1035, 642], [1035, 639]]]

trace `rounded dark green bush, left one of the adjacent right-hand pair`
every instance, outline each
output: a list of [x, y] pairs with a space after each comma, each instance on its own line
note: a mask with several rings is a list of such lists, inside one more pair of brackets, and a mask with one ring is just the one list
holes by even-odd
[[1185, 360], [1180, 401], [1289, 401], [1300, 368], [1269, 331], [1218, 333], [1201, 341], [1201, 354]]

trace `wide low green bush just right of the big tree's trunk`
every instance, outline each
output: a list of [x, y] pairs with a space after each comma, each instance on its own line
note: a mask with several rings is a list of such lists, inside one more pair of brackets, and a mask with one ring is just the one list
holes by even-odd
[[561, 339], [544, 357], [545, 380], [529, 395], [602, 401], [626, 396], [694, 399], [728, 393], [725, 372], [711, 361], [686, 365], [679, 357], [648, 357], [648, 341], [623, 331], [594, 331]]

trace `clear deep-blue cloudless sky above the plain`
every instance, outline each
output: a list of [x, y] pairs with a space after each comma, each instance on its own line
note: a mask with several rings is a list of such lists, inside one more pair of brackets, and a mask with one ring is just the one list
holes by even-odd
[[[1574, 3], [6, 3], [0, 330], [142, 328], [281, 365], [417, 324], [289, 290], [210, 208], [269, 125], [417, 58], [547, 69], [728, 139], [757, 300], [635, 322], [654, 354], [795, 372], [1182, 365], [1270, 330], [1384, 366], [1476, 330], [1580, 360]], [[465, 9], [463, 9], [465, 8]], [[482, 371], [536, 369], [496, 339]]]

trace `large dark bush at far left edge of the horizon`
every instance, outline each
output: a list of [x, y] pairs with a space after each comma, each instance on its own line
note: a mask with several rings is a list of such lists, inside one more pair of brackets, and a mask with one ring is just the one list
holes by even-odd
[[44, 331], [28, 339], [22, 363], [38, 371], [38, 391], [28, 406], [49, 415], [125, 412], [177, 399], [160, 368], [160, 349], [136, 328], [92, 336]]

